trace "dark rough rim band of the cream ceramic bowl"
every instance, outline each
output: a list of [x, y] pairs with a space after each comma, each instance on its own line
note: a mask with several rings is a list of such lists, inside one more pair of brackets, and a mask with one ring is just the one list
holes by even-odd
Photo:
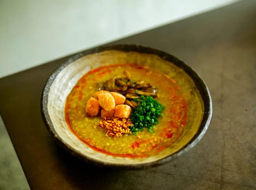
[[[48, 94], [50, 87], [52, 86], [53, 81], [56, 79], [57, 75], [69, 64], [72, 62], [78, 60], [79, 58], [86, 56], [88, 54], [94, 54], [94, 53], [99, 53], [103, 52], [106, 50], [118, 50], [118, 51], [124, 51], [124, 52], [138, 52], [138, 53], [147, 53], [147, 54], [155, 54], [162, 58], [165, 61], [172, 62], [174, 65], [178, 66], [179, 68], [182, 68], [193, 80], [195, 83], [195, 86], [197, 90], [199, 90], [199, 93], [202, 97], [203, 103], [204, 103], [204, 114], [202, 121], [200, 123], [199, 129], [197, 130], [196, 134], [193, 136], [193, 138], [181, 149], [178, 151], [160, 159], [156, 160], [150, 163], [143, 163], [143, 164], [113, 164], [113, 163], [107, 163], [107, 162], [102, 162], [98, 160], [94, 160], [90, 157], [81, 155], [79, 152], [77, 152], [75, 149], [73, 149], [71, 146], [69, 146], [67, 143], [65, 143], [61, 137], [57, 134], [56, 130], [54, 129], [54, 126], [52, 124], [52, 121], [50, 119], [50, 115], [48, 113]], [[206, 132], [208, 125], [211, 120], [212, 116], [212, 100], [210, 96], [210, 92], [203, 81], [203, 79], [187, 64], [185, 64], [184, 61], [181, 61], [177, 57], [163, 52], [158, 49], [154, 49], [151, 47], [146, 47], [142, 45], [128, 45], [128, 44], [120, 44], [120, 45], [109, 45], [109, 46], [99, 46], [95, 47], [93, 49], [85, 50], [83, 52], [80, 52], [76, 54], [75, 56], [70, 57], [66, 62], [61, 64], [53, 73], [52, 75], [48, 78], [46, 81], [46, 84], [44, 86], [44, 89], [42, 91], [41, 95], [41, 114], [43, 121], [46, 125], [46, 128], [48, 131], [53, 135], [54, 139], [63, 147], [66, 149], [68, 152], [70, 152], [72, 155], [78, 157], [79, 159], [82, 159], [86, 162], [92, 163], [97, 166], [106, 166], [106, 167], [114, 167], [114, 168], [131, 168], [131, 169], [140, 169], [140, 168], [148, 168], [148, 167], [154, 167], [154, 166], [159, 166], [162, 164], [165, 164], [176, 157], [182, 155], [185, 152], [188, 152], [192, 147], [194, 147], [197, 142], [203, 137], [204, 133]]]

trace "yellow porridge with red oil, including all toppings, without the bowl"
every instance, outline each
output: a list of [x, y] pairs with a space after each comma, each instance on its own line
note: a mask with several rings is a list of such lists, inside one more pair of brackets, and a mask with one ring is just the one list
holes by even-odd
[[187, 121], [176, 81], [136, 64], [108, 65], [79, 79], [65, 104], [69, 129], [96, 151], [145, 157], [171, 145]]

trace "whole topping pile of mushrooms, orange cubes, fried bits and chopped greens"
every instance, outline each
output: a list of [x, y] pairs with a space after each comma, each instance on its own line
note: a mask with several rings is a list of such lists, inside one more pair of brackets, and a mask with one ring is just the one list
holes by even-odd
[[[106, 136], [122, 137], [148, 128], [153, 133], [153, 125], [164, 107], [158, 100], [157, 88], [143, 80], [133, 81], [129, 72], [97, 83], [99, 89], [86, 104], [86, 114], [95, 117], [99, 113], [99, 126], [106, 129]], [[145, 97], [146, 96], [146, 97]]]

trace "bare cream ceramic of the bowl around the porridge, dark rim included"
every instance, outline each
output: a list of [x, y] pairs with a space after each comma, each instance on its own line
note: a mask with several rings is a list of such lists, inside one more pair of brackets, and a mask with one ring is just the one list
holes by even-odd
[[[188, 121], [181, 136], [163, 151], [148, 157], [126, 158], [94, 151], [80, 141], [65, 122], [65, 100], [77, 81], [103, 65], [135, 63], [156, 68], [176, 79], [188, 101]], [[165, 67], [163, 67], [165, 65]], [[166, 70], [166, 65], [168, 68]], [[191, 98], [191, 94], [196, 97]], [[178, 58], [139, 45], [101, 46], [69, 58], [49, 77], [41, 98], [45, 125], [57, 142], [72, 155], [93, 164], [110, 167], [146, 168], [164, 164], [187, 152], [203, 137], [210, 123], [212, 102], [208, 88], [197, 73]]]

